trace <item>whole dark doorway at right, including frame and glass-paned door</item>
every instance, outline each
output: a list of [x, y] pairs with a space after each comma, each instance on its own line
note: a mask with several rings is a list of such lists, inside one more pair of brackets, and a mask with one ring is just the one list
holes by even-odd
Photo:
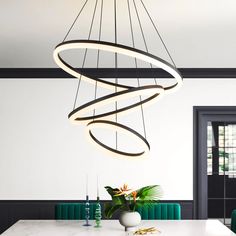
[[236, 208], [236, 107], [194, 107], [194, 216], [224, 223]]

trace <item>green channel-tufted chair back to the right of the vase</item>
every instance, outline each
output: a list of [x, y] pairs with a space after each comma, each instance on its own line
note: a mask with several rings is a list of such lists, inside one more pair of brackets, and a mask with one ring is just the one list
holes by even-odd
[[152, 203], [137, 208], [143, 220], [180, 220], [181, 207], [178, 203]]

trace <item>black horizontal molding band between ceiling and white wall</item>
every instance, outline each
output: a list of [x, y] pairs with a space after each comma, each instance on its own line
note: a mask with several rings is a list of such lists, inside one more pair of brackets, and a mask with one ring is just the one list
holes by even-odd
[[[156, 68], [84, 68], [84, 75], [93, 78], [171, 78], [162, 69]], [[179, 68], [185, 79], [236, 78], [236, 68]], [[4, 79], [65, 79], [74, 78], [60, 68], [0, 68]]]

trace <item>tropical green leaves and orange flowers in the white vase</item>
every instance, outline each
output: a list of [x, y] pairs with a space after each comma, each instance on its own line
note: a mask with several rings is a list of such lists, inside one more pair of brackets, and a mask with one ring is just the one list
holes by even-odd
[[124, 184], [120, 188], [112, 188], [106, 186], [105, 189], [112, 198], [111, 203], [105, 204], [105, 217], [111, 218], [112, 215], [118, 211], [135, 211], [138, 206], [143, 204], [156, 203], [162, 196], [162, 190], [159, 185], [149, 185], [137, 190], [128, 188]]

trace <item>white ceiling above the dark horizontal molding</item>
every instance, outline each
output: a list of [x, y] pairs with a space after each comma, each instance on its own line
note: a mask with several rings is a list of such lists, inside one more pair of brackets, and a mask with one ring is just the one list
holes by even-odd
[[[139, 4], [139, 0], [135, 1]], [[143, 1], [177, 67], [236, 67], [235, 0]], [[62, 41], [83, 3], [84, 0], [1, 0], [0, 67], [57, 67], [52, 58], [53, 49]], [[94, 3], [95, 0], [89, 0], [90, 12]], [[130, 45], [127, 9], [124, 5], [126, 1], [117, 0], [117, 3], [120, 19], [118, 41]], [[113, 12], [112, 4], [112, 0], [104, 0], [104, 16], [108, 20], [103, 24], [103, 37], [108, 39], [109, 35], [114, 35], [111, 33], [114, 24], [109, 18]], [[91, 17], [88, 17], [89, 10], [86, 11], [85, 16], [79, 19], [79, 24], [73, 28], [69, 39], [78, 38], [88, 30], [88, 19]], [[151, 33], [150, 22], [141, 15], [144, 17], [142, 22], [145, 35], [149, 36], [150, 51], [164, 55], [160, 40]], [[97, 27], [98, 22], [97, 14]]]

